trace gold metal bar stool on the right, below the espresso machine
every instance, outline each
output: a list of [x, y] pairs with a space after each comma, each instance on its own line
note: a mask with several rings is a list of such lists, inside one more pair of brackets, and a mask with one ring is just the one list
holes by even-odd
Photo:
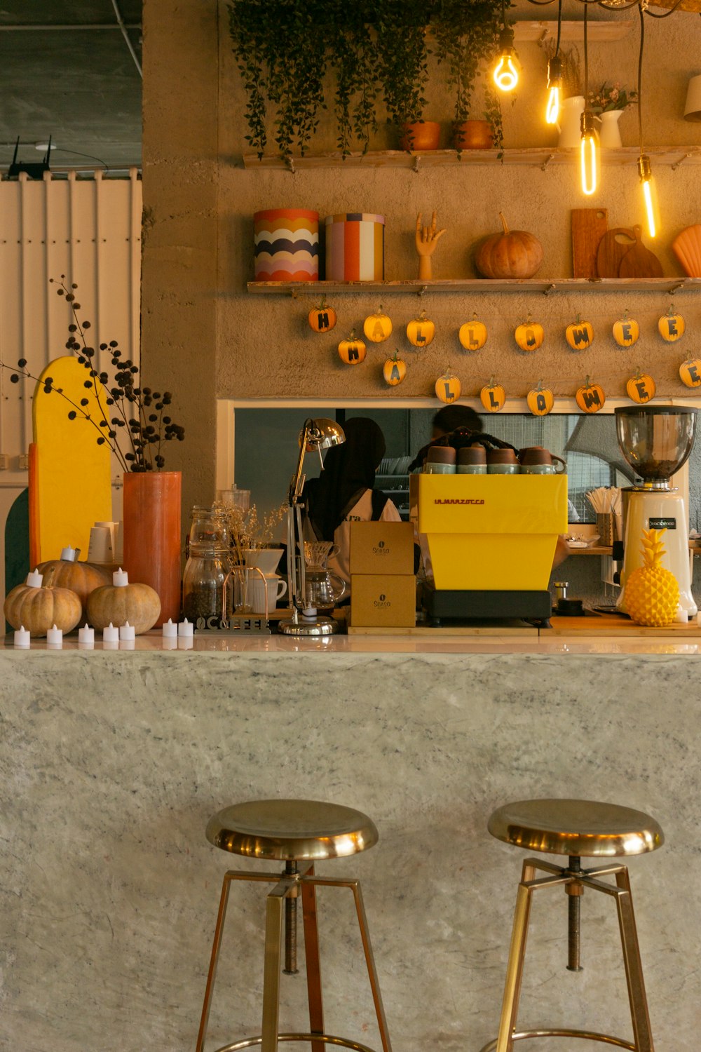
[[[664, 835], [657, 822], [642, 811], [616, 804], [600, 804], [587, 800], [524, 800], [506, 804], [494, 811], [488, 829], [492, 836], [507, 844], [570, 857], [564, 867], [553, 866], [552, 863], [538, 858], [527, 858], [523, 863], [516, 896], [499, 1034], [495, 1040], [484, 1045], [481, 1052], [492, 1052], [493, 1049], [497, 1052], [512, 1052], [514, 1041], [523, 1037], [584, 1037], [631, 1049], [632, 1052], [653, 1052], [627, 868], [615, 862], [606, 862], [599, 863], [593, 869], [582, 869], [580, 859], [582, 856], [614, 858], [655, 851], [664, 843]], [[536, 878], [536, 870], [550, 875]], [[605, 876], [615, 876], [616, 883], [602, 881], [601, 877]], [[633, 1041], [611, 1034], [565, 1028], [516, 1031], [531, 902], [536, 891], [558, 886], [563, 887], [568, 894], [566, 967], [573, 972], [581, 971], [579, 914], [584, 889], [602, 891], [616, 901], [633, 1021]]]

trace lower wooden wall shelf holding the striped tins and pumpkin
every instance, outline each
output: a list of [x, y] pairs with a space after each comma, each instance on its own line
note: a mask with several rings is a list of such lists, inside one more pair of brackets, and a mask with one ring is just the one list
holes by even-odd
[[257, 296], [315, 296], [330, 292], [661, 292], [677, 296], [699, 291], [701, 278], [456, 278], [452, 281], [249, 281], [248, 291]]

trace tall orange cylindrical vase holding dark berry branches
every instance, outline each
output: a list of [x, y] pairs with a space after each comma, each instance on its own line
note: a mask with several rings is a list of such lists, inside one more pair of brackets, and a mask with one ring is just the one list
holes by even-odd
[[124, 474], [124, 569], [161, 599], [161, 625], [180, 616], [180, 471]]

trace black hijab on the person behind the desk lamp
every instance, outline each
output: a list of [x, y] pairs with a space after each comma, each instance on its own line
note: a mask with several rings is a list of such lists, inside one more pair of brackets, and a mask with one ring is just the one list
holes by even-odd
[[375, 483], [385, 456], [385, 436], [369, 417], [352, 417], [343, 425], [346, 441], [326, 453], [318, 479], [305, 484], [302, 499], [319, 541], [333, 541], [337, 526]]

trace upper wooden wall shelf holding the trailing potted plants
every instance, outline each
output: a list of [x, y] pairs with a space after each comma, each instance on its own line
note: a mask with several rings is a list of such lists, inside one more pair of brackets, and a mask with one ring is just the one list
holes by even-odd
[[[671, 165], [676, 170], [681, 164], [701, 164], [701, 146], [661, 146], [646, 149], [645, 154], [654, 164]], [[637, 146], [622, 146], [620, 149], [602, 149], [601, 163], [606, 165], [637, 164], [640, 150]], [[577, 147], [559, 149], [557, 146], [529, 146], [519, 149], [429, 149], [425, 153], [405, 149], [371, 150], [367, 154], [352, 153], [344, 159], [339, 150], [311, 153], [304, 157], [283, 159], [276, 154], [259, 158], [257, 154], [244, 154], [244, 167], [251, 170], [261, 168], [287, 168], [302, 171], [309, 168], [421, 168], [440, 167], [447, 164], [527, 164], [539, 165], [544, 171], [552, 164], [572, 164], [579, 159]]]

